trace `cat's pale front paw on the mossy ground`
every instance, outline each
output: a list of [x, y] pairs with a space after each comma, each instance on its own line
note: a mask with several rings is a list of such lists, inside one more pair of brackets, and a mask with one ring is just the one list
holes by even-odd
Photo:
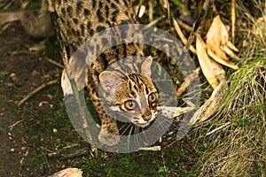
[[108, 146], [113, 146], [120, 141], [120, 135], [119, 133], [114, 134], [108, 132], [106, 129], [102, 128], [98, 135], [98, 140]]

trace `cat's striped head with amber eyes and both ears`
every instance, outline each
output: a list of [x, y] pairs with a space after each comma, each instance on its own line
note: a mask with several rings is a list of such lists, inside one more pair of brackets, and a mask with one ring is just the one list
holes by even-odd
[[150, 78], [152, 62], [152, 58], [145, 58], [141, 73], [121, 77], [115, 72], [105, 71], [99, 75], [108, 109], [120, 112], [124, 119], [138, 127], [148, 126], [158, 115], [159, 93]]

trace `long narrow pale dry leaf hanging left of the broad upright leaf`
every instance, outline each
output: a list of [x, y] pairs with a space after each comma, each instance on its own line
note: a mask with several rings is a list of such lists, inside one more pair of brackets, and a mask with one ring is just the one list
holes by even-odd
[[203, 42], [199, 34], [196, 35], [196, 39], [197, 55], [202, 73], [211, 87], [215, 89], [225, 78], [223, 66], [208, 57], [206, 44]]

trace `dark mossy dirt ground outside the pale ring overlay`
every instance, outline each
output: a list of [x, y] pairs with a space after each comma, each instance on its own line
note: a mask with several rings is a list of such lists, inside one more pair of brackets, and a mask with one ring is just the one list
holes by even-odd
[[[46, 48], [32, 50], [36, 45], [39, 49]], [[84, 176], [188, 176], [188, 173], [193, 176], [199, 173], [200, 168], [194, 170], [193, 165], [199, 158], [200, 147], [193, 146], [189, 137], [180, 142], [164, 142], [163, 150], [154, 152], [90, 153], [88, 143], [82, 141], [67, 117], [59, 84], [62, 69], [51, 65], [45, 57], [60, 62], [55, 38], [47, 39], [43, 45], [43, 39], [28, 36], [20, 23], [12, 24], [0, 35], [1, 177], [48, 176], [66, 167], [81, 168]], [[18, 106], [28, 93], [54, 80], [58, 80], [56, 84]], [[79, 158], [62, 159], [61, 154], [72, 147], [85, 148], [87, 152]], [[48, 157], [48, 154], [56, 154], [56, 157]]]

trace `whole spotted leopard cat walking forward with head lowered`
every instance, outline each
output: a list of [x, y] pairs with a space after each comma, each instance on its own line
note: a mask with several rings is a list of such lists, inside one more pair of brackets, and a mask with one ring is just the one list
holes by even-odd
[[[60, 31], [73, 49], [105, 29], [137, 23], [128, 0], [49, 0], [48, 5], [57, 12]], [[109, 146], [120, 141], [119, 128], [113, 119], [115, 112], [138, 127], [149, 126], [158, 115], [159, 93], [151, 79], [153, 58], [141, 59], [144, 46], [126, 42], [127, 38], [141, 37], [128, 35], [132, 30], [137, 29], [122, 30], [119, 37], [125, 42], [101, 53], [91, 62], [86, 76], [92, 103], [101, 120], [98, 140]], [[90, 50], [84, 51], [84, 57], [97, 53], [99, 46], [110, 40], [111, 36], [99, 36]], [[119, 63], [122, 58], [127, 62]]]

